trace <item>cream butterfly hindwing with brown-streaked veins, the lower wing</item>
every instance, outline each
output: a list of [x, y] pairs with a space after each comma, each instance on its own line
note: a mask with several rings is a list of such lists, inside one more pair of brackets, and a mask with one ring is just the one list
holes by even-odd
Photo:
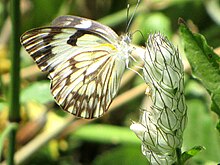
[[[106, 52], [97, 53], [105, 55], [104, 53]], [[96, 59], [96, 62], [99, 62], [98, 60], [103, 62], [100, 63], [95, 72], [92, 72], [92, 65], [95, 64], [81, 65], [79, 61], [77, 61], [77, 65], [78, 67], [81, 65], [81, 68], [76, 66], [75, 69], [62, 67], [66, 73], [69, 70], [68, 75], [62, 77], [64, 74], [62, 71], [59, 71], [55, 75], [57, 79], [51, 84], [51, 90], [63, 109], [85, 118], [91, 118], [89, 115], [99, 117], [108, 109], [112, 98], [118, 90], [118, 79], [120, 79], [123, 73], [115, 72], [116, 63], [117, 65], [123, 65], [123, 63], [114, 62], [109, 58], [100, 57], [100, 59]], [[69, 62], [74, 67], [75, 61], [70, 59]], [[88, 61], [88, 63], [90, 62]], [[91, 61], [91, 63], [93, 62]]]

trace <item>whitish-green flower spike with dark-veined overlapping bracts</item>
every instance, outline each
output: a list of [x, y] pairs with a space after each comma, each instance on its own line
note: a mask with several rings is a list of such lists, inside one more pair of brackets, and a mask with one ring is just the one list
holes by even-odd
[[160, 33], [149, 36], [141, 58], [151, 105], [141, 110], [139, 122], [130, 129], [142, 141], [142, 153], [151, 164], [169, 165], [177, 161], [187, 120], [182, 60]]

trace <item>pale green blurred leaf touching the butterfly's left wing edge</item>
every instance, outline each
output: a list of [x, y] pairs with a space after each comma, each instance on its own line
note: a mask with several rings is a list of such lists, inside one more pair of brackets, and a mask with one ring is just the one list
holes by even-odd
[[21, 102], [36, 101], [41, 104], [53, 101], [49, 81], [35, 82], [22, 90]]

